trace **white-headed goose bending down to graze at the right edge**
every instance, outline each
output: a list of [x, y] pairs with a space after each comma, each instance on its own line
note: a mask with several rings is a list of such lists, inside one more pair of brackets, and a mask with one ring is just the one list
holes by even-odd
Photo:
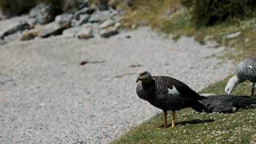
[[236, 75], [229, 79], [225, 87], [225, 92], [230, 95], [239, 83], [247, 80], [250, 81], [251, 98], [253, 98], [256, 83], [256, 57], [246, 58], [238, 64]]

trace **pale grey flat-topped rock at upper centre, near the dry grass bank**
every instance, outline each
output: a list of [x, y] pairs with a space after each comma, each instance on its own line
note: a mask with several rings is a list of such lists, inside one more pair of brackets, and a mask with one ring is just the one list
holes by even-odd
[[95, 11], [91, 15], [91, 18], [89, 18], [89, 22], [91, 22], [91, 23], [100, 22], [101, 23], [109, 18], [110, 18], [110, 11], [108, 11], [108, 10]]

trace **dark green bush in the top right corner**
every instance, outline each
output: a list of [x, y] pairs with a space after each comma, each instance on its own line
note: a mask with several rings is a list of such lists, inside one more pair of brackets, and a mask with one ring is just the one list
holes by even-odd
[[181, 0], [188, 8], [198, 26], [211, 26], [229, 18], [243, 19], [252, 14], [256, 0]]

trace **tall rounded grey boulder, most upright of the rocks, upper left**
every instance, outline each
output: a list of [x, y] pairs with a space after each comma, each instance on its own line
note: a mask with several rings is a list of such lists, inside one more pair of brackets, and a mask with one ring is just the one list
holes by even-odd
[[54, 8], [51, 5], [46, 5], [40, 9], [36, 15], [36, 22], [45, 25], [54, 20]]

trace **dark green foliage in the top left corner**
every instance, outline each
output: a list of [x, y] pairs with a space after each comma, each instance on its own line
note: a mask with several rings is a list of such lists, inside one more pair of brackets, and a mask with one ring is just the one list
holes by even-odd
[[7, 17], [28, 12], [29, 9], [36, 5], [35, 0], [0, 0], [2, 12]]

